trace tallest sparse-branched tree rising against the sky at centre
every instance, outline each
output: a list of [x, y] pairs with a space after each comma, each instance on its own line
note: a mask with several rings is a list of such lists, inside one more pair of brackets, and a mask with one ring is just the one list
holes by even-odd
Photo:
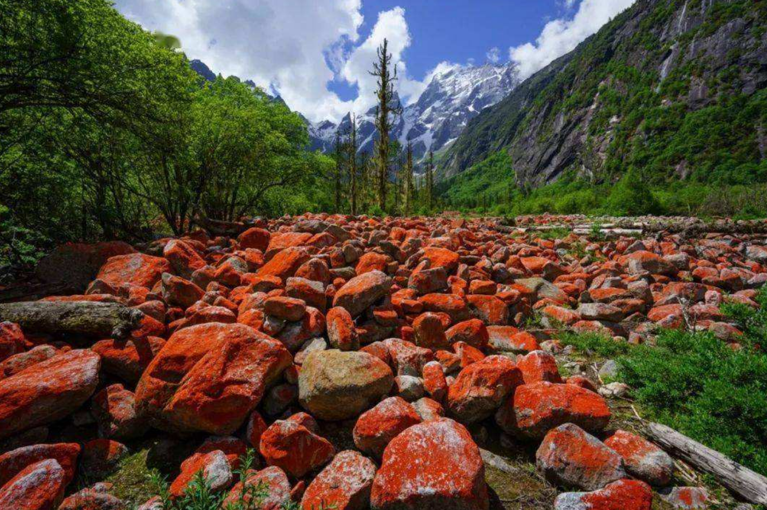
[[389, 41], [384, 39], [377, 51], [378, 60], [373, 64], [370, 74], [377, 78], [376, 97], [376, 129], [378, 140], [376, 142], [377, 168], [377, 198], [378, 207], [386, 208], [386, 188], [389, 168], [389, 132], [391, 131], [391, 115], [401, 112], [399, 104], [393, 104], [394, 82], [397, 81], [397, 66], [392, 68], [392, 55], [389, 53]]

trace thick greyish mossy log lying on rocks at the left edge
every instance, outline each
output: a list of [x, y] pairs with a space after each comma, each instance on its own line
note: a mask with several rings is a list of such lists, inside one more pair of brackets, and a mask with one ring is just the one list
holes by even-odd
[[0, 321], [16, 322], [24, 331], [77, 333], [126, 338], [143, 318], [140, 310], [115, 302], [29, 301], [0, 304]]

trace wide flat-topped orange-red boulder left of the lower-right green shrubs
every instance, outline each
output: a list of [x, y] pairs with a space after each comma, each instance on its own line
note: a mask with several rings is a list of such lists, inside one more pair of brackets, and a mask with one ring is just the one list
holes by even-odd
[[541, 381], [516, 389], [495, 414], [505, 432], [540, 439], [562, 423], [575, 423], [595, 432], [607, 427], [610, 408], [604, 398], [574, 384]]

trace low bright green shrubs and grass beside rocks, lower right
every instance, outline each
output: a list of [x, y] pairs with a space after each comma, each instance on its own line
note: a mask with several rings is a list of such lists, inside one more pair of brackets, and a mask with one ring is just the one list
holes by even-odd
[[723, 306], [741, 325], [742, 348], [709, 332], [663, 330], [657, 345], [630, 345], [594, 334], [561, 342], [594, 358], [615, 358], [618, 380], [644, 417], [665, 423], [738, 463], [767, 475], [767, 290], [754, 310]]

